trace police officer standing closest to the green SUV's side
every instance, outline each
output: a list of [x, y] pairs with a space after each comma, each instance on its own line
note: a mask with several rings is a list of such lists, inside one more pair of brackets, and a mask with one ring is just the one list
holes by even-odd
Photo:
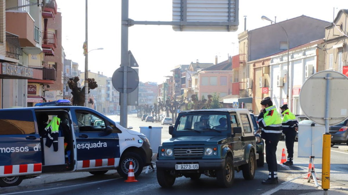
[[266, 162], [268, 164], [268, 179], [263, 180], [262, 184], [277, 184], [277, 145], [282, 136], [282, 118], [273, 105], [271, 97], [265, 97], [261, 101], [262, 108], [258, 117], [259, 129], [256, 133], [261, 133], [261, 138], [266, 143]]

